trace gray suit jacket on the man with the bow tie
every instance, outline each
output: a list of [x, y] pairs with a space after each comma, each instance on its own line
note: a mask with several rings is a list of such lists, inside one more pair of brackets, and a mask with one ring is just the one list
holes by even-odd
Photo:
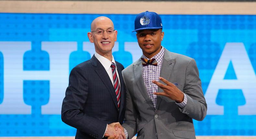
[[[165, 96], [157, 96], [154, 107], [143, 81], [141, 59], [124, 69], [122, 75], [127, 88], [122, 126], [130, 139], [136, 133], [137, 139], [195, 139], [192, 119], [202, 121], [207, 105], [194, 59], [165, 49], [160, 77], [178, 83], [177, 87], [187, 95], [183, 109]], [[158, 92], [162, 91], [158, 87]]]

